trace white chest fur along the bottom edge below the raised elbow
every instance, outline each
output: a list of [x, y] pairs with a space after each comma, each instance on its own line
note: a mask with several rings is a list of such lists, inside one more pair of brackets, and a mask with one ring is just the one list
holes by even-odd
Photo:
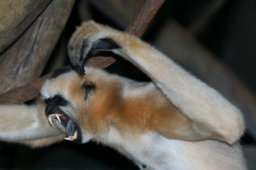
[[109, 128], [107, 134], [94, 140], [115, 148], [138, 164], [141, 169], [142, 164], [154, 170], [246, 169], [238, 143], [227, 146], [220, 141], [211, 140], [180, 141], [164, 138], [156, 132], [134, 136], [120, 134], [115, 127]]

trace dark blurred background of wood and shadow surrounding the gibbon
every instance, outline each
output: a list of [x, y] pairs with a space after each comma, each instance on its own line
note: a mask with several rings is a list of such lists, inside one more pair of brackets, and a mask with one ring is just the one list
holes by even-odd
[[[95, 20], [125, 30], [145, 0], [0, 1], [0, 94], [69, 64], [67, 42], [76, 27]], [[142, 39], [156, 46], [244, 113], [241, 139], [256, 169], [256, 1], [168, 0]], [[145, 81], [131, 64], [108, 70]], [[157, 144], [156, 144], [157, 145]], [[138, 169], [106, 146], [62, 142], [46, 148], [0, 143], [0, 169]]]

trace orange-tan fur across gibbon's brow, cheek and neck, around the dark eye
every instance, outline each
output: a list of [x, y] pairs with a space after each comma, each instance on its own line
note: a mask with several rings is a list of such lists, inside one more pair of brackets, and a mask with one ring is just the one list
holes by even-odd
[[[74, 74], [74, 73], [72, 73]], [[96, 84], [96, 90], [84, 101], [84, 81]], [[52, 87], [68, 92], [75, 104], [77, 120], [92, 136], [115, 126], [120, 134], [140, 134], [156, 131], [167, 138], [188, 139], [193, 134], [191, 121], [185, 117], [158, 89], [130, 97], [122, 96], [118, 76], [108, 73], [74, 74], [58, 78]]]

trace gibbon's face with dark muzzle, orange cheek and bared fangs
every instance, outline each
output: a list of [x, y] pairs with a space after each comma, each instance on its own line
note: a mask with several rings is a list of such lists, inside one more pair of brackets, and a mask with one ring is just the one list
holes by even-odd
[[118, 108], [120, 83], [116, 76], [84, 67], [83, 76], [70, 67], [60, 69], [41, 89], [50, 124], [67, 132], [67, 140], [86, 143], [108, 131], [108, 117]]

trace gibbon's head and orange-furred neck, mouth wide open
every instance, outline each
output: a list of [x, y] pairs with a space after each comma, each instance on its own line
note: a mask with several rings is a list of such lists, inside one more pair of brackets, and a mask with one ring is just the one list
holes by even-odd
[[84, 73], [70, 67], [59, 69], [41, 89], [49, 122], [65, 129], [65, 139], [102, 141], [106, 134], [113, 138], [111, 132], [116, 131], [129, 139], [148, 131], [188, 141], [204, 138], [153, 83], [132, 81], [93, 67], [84, 67]]

